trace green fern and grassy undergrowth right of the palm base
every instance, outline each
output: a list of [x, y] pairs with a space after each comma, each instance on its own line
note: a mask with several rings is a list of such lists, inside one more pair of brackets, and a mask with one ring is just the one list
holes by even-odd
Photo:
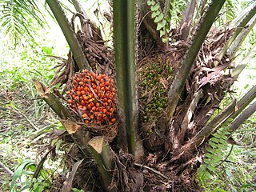
[[[248, 89], [246, 85], [244, 89]], [[243, 90], [242, 92], [244, 92]], [[241, 98], [241, 93], [237, 96]], [[229, 102], [226, 98], [222, 105]], [[222, 107], [221, 105], [221, 107]], [[256, 114], [246, 120], [231, 136], [235, 144], [227, 142], [229, 123], [212, 134], [206, 147], [197, 180], [204, 191], [254, 191], [256, 188]], [[225, 181], [225, 182], [223, 182]]]

